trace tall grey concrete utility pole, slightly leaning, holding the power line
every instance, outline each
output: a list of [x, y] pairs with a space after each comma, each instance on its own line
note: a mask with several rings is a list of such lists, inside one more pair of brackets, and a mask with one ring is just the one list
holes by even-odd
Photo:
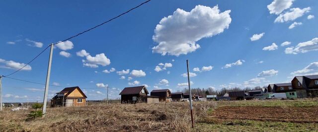
[[45, 116], [45, 113], [46, 113], [46, 103], [47, 103], [47, 99], [48, 99], [48, 91], [49, 91], [49, 84], [50, 84], [50, 74], [51, 74], [53, 47], [54, 47], [54, 45], [51, 44], [50, 57], [49, 57], [49, 66], [48, 66], [48, 72], [46, 74], [45, 91], [44, 91], [44, 99], [43, 99], [43, 110], [42, 110], [43, 117]]

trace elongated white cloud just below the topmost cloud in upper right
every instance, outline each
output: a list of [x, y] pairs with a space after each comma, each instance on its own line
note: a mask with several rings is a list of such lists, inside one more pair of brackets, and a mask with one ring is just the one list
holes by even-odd
[[287, 22], [287, 21], [293, 21], [297, 19], [298, 17], [303, 16], [305, 13], [309, 12], [311, 10], [310, 7], [307, 8], [291, 8], [289, 12], [285, 12], [282, 14], [279, 14], [279, 16], [275, 19], [274, 22]]

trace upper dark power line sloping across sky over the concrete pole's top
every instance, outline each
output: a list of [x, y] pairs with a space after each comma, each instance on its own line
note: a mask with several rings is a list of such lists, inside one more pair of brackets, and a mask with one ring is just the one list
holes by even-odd
[[[67, 39], [65, 39], [65, 40], [63, 40], [63, 41], [56, 42], [56, 43], [54, 43], [53, 45], [56, 45], [56, 44], [65, 42], [65, 41], [70, 40], [70, 39], [72, 39], [72, 38], [75, 38], [75, 37], [77, 37], [77, 36], [79, 36], [79, 35], [81, 35], [81, 34], [84, 34], [84, 33], [88, 32], [88, 31], [90, 31], [90, 30], [92, 30], [92, 29], [95, 29], [95, 28], [97, 28], [97, 27], [99, 27], [99, 26], [101, 26], [101, 25], [103, 25], [103, 24], [105, 24], [105, 23], [108, 23], [108, 22], [110, 22], [110, 21], [112, 21], [112, 20], [114, 20], [114, 19], [116, 19], [116, 18], [118, 18], [118, 17], [120, 17], [120, 16], [122, 16], [122, 15], [124, 15], [124, 14], [126, 14], [126, 13], [128, 13], [128, 12], [130, 12], [130, 11], [136, 9], [136, 8], [138, 8], [138, 7], [140, 7], [141, 5], [143, 5], [143, 4], [145, 4], [145, 3], [149, 2], [149, 1], [150, 1], [150, 0], [147, 0], [147, 1], [145, 1], [145, 2], [143, 2], [143, 3], [141, 3], [141, 4], [139, 4], [138, 6], [133, 7], [133, 8], [131, 8], [131, 9], [129, 9], [128, 11], [124, 12], [124, 13], [121, 13], [120, 15], [118, 15], [118, 16], [116, 16], [116, 17], [113, 17], [113, 18], [111, 18], [111, 19], [109, 19], [109, 20], [107, 20], [107, 21], [105, 21], [105, 22], [103, 22], [103, 23], [101, 23], [101, 24], [99, 24], [99, 25], [96, 25], [96, 26], [94, 26], [94, 27], [92, 27], [92, 28], [89, 28], [89, 29], [87, 29], [87, 30], [85, 30], [85, 31], [83, 31], [83, 32], [80, 32], [80, 33], [78, 33], [78, 34], [76, 34], [76, 35], [74, 35], [74, 36], [71, 36], [71, 37], [69, 37], [69, 38], [67, 38]], [[24, 65], [24, 66], [21, 67], [20, 69], [14, 71], [14, 72], [12, 72], [12, 73], [10, 73], [10, 74], [8, 74], [8, 75], [5, 75], [4, 77], [9, 76], [9, 75], [12, 75], [12, 74], [14, 74], [14, 73], [20, 71], [22, 68], [24, 68], [25, 66], [29, 65], [30, 63], [32, 63], [36, 58], [38, 58], [38, 57], [39, 57], [46, 49], [48, 49], [50, 46], [51, 46], [51, 44], [50, 44], [48, 47], [46, 47], [46, 48], [45, 48], [40, 54], [38, 54], [35, 58], [33, 58], [29, 63], [27, 63], [26, 65]]]

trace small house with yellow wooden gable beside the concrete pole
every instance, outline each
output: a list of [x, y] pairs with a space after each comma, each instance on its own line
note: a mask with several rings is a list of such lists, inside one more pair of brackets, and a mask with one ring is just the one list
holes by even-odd
[[51, 107], [85, 106], [87, 96], [78, 86], [64, 88], [51, 99]]

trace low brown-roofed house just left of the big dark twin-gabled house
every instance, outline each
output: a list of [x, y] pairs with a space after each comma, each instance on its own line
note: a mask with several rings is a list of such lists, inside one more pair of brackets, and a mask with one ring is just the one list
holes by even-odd
[[[275, 83], [269, 84], [267, 86], [268, 92], [273, 93], [284, 93], [284, 92], [292, 92], [295, 91], [293, 89], [292, 83]], [[270, 90], [269, 90], [270, 89]]]

